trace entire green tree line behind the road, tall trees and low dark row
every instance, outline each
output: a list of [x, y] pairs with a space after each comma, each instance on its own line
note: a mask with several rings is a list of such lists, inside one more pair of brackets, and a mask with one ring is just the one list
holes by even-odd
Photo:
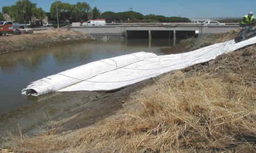
[[59, 21], [67, 22], [83, 22], [90, 19], [104, 18], [107, 22], [190, 22], [184, 17], [165, 17], [162, 15], [142, 15], [139, 12], [103, 12], [96, 7], [93, 9], [86, 2], [78, 2], [77, 4], [62, 3], [56, 1], [51, 4], [50, 13], [46, 13], [41, 8], [37, 8], [35, 3], [29, 0], [18, 0], [14, 5], [5, 6], [0, 13], [0, 19], [3, 20], [3, 14], [8, 14], [10, 18], [16, 22], [30, 22], [34, 19], [44, 19], [46, 15], [51, 21], [56, 21], [58, 8]]

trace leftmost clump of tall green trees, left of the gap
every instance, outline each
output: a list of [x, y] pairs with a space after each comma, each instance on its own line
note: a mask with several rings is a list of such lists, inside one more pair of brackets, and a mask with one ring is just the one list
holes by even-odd
[[45, 11], [36, 7], [36, 3], [29, 0], [17, 1], [15, 5], [5, 6], [2, 8], [3, 13], [8, 14], [11, 19], [17, 22], [31, 22], [33, 18], [42, 19], [45, 17]]

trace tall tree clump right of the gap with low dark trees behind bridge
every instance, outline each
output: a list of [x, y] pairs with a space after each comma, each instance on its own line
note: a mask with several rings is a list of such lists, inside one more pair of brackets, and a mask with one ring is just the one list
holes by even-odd
[[127, 11], [127, 12], [103, 12], [100, 14], [100, 10], [96, 7], [91, 9], [90, 5], [83, 2], [71, 5], [69, 3], [61, 3], [60, 1], [54, 2], [51, 5], [50, 17], [56, 17], [56, 7], [58, 6], [59, 20], [69, 20], [71, 22], [87, 21], [89, 19], [104, 18], [108, 22], [190, 22], [188, 18], [182, 17], [165, 17], [160, 15], [146, 15], [143, 16], [139, 12]]

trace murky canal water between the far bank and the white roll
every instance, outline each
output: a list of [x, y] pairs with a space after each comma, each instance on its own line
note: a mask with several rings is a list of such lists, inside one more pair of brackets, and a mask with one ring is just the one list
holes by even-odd
[[2, 55], [0, 115], [38, 100], [20, 94], [30, 82], [100, 59], [142, 51], [161, 55], [160, 48], [172, 44], [166, 39], [153, 40], [150, 45], [147, 39], [93, 41]]

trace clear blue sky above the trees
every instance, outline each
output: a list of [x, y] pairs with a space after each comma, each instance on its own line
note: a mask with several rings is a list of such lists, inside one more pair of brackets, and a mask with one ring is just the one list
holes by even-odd
[[[55, 0], [30, 0], [46, 12], [50, 11]], [[1, 0], [0, 8], [15, 4], [16, 0]], [[155, 14], [180, 16], [190, 19], [198, 17], [242, 17], [249, 11], [256, 12], [254, 0], [61, 0], [63, 3], [76, 4], [86, 2], [91, 8], [97, 7], [100, 12], [124, 12], [132, 8], [143, 15]]]

